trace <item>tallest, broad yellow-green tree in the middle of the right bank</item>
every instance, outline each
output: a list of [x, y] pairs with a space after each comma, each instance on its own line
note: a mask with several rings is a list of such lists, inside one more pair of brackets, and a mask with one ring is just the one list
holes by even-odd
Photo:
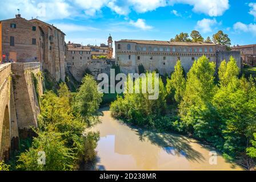
[[179, 104], [179, 115], [185, 129], [197, 137], [216, 140], [217, 113], [211, 105], [215, 93], [215, 64], [206, 56], [194, 61], [187, 73], [185, 93]]

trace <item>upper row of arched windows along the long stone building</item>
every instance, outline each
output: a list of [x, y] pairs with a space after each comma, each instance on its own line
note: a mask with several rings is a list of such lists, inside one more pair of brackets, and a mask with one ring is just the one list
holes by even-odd
[[[120, 44], [118, 44], [118, 46], [117, 46], [117, 48], [118, 49], [121, 49], [121, 45]], [[131, 49], [131, 45], [130, 44], [127, 44], [127, 50], [130, 50]], [[196, 47], [194, 47], [194, 48], [181, 48], [181, 47], [137, 47], [136, 48], [137, 49], [137, 51], [160, 51], [160, 52], [163, 52], [163, 51], [165, 51], [165, 52], [187, 52], [187, 51], [189, 51], [189, 52], [208, 52], [208, 48], [207, 47], [205, 47], [205, 48], [202, 48], [202, 47], [200, 47], [200, 48], [196, 48]], [[213, 48], [212, 47], [210, 47], [209, 48], [209, 52], [213, 52]]]

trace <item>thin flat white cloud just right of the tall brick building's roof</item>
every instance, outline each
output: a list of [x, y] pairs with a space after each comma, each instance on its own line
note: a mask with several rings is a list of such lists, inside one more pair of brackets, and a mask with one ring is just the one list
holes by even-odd
[[77, 24], [69, 24], [69, 23], [58, 23], [54, 24], [54, 26], [61, 29], [63, 32], [83, 32], [83, 31], [97, 31], [98, 28], [94, 27], [87, 27], [87, 26], [80, 26]]

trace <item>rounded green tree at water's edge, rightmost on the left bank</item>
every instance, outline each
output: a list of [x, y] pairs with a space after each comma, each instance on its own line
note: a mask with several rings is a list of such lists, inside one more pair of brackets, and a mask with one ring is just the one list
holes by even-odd
[[86, 75], [82, 79], [82, 85], [75, 94], [73, 108], [81, 115], [87, 125], [93, 126], [98, 122], [98, 109], [103, 94], [98, 92], [97, 82], [93, 76]]

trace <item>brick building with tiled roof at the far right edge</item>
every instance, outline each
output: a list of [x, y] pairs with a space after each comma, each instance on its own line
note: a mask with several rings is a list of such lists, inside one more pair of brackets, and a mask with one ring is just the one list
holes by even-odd
[[231, 47], [232, 51], [241, 52], [241, 61], [243, 64], [250, 66], [256, 65], [256, 44], [245, 45], [245, 46], [234, 46]]

